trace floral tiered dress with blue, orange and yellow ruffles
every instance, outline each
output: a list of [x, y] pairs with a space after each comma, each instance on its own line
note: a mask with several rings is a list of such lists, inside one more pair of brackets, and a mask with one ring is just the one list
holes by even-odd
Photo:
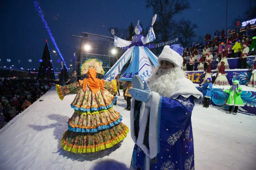
[[99, 89], [94, 94], [86, 85], [84, 91], [81, 80], [63, 87], [56, 85], [56, 90], [61, 100], [65, 95], [77, 92], [71, 103], [75, 112], [68, 120], [68, 130], [61, 140], [64, 150], [74, 153], [97, 152], [111, 148], [126, 138], [128, 127], [121, 123], [121, 114], [113, 109], [117, 97], [107, 90]]

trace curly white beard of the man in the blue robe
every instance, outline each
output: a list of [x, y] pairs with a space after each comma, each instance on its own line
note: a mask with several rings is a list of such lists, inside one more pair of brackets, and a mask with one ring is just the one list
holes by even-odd
[[[185, 73], [181, 68], [159, 69], [159, 67], [152, 70], [148, 85], [151, 91], [159, 93], [160, 96], [169, 97], [174, 92], [175, 81], [178, 78], [185, 78]], [[156, 74], [157, 71], [158, 74]]]

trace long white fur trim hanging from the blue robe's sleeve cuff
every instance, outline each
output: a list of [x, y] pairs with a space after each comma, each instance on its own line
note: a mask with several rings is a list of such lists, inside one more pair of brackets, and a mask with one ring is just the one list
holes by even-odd
[[[158, 151], [158, 141], [157, 141], [157, 125], [158, 125], [158, 106], [159, 106], [160, 95], [157, 92], [152, 92], [151, 107], [148, 107], [143, 102], [141, 107], [145, 107], [144, 113], [140, 112], [140, 131], [137, 139], [137, 145], [145, 152], [145, 154], [150, 158], [155, 158]], [[142, 109], [141, 109], [142, 110]], [[150, 114], [149, 122], [149, 146], [147, 148], [143, 144], [145, 130], [147, 126], [147, 118]]]

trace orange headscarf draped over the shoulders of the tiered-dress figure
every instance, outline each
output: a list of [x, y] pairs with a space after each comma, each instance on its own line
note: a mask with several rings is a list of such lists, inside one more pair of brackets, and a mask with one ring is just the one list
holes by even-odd
[[95, 94], [101, 89], [104, 91], [104, 80], [96, 78], [96, 70], [94, 68], [89, 68], [87, 72], [87, 78], [83, 80], [83, 90], [85, 92], [86, 85], [89, 89], [92, 90]]

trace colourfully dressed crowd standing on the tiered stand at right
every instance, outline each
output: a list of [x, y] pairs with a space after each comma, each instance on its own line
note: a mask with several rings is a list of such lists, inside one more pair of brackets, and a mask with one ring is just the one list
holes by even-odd
[[[222, 61], [225, 58], [241, 58], [241, 68], [245, 68], [244, 61], [249, 55], [256, 55], [256, 33], [251, 29], [251, 24], [244, 27], [244, 31], [240, 31], [239, 25], [233, 30], [228, 31], [225, 35], [225, 29], [220, 32], [216, 30], [213, 40], [210, 33], [206, 33], [202, 43], [192, 43], [191, 47], [185, 47], [183, 52], [183, 70], [186, 71], [186, 63], [189, 63], [189, 70], [193, 71], [194, 63], [199, 61], [197, 56], [200, 54], [204, 60], [204, 70], [207, 68], [209, 62], [213, 59]], [[210, 61], [205, 59], [212, 55]], [[227, 63], [226, 63], [227, 64]], [[199, 64], [198, 64], [199, 66]]]

